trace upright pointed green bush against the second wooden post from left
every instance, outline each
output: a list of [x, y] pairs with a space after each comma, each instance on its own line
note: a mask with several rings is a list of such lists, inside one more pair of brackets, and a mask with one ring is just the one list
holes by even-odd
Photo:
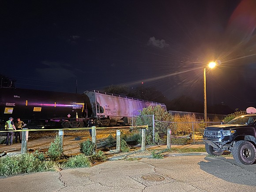
[[58, 160], [63, 157], [63, 147], [61, 146], [60, 136], [56, 136], [54, 142], [51, 143], [48, 152], [46, 153], [50, 159]]

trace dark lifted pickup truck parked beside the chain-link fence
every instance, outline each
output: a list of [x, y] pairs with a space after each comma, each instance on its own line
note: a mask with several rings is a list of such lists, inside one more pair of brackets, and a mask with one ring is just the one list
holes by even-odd
[[256, 109], [249, 108], [246, 111], [251, 114], [204, 129], [203, 141], [208, 154], [220, 156], [224, 151], [230, 151], [238, 163], [256, 163]]

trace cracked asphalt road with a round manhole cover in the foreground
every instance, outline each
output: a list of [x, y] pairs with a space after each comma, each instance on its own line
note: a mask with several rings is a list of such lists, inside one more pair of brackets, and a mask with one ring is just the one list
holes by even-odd
[[232, 157], [205, 155], [142, 158], [0, 177], [0, 186], [5, 192], [254, 192], [256, 165], [244, 166]]

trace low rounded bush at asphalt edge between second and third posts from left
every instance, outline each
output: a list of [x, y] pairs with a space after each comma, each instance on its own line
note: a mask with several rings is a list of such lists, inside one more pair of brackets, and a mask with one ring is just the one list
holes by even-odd
[[84, 154], [75, 155], [70, 157], [67, 162], [64, 163], [65, 168], [79, 168], [90, 167], [90, 161]]

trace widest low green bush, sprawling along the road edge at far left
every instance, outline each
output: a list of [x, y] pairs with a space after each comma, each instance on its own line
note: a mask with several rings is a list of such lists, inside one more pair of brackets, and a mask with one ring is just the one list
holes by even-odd
[[11, 176], [22, 173], [56, 171], [60, 165], [52, 161], [40, 161], [31, 153], [0, 158], [0, 176]]

